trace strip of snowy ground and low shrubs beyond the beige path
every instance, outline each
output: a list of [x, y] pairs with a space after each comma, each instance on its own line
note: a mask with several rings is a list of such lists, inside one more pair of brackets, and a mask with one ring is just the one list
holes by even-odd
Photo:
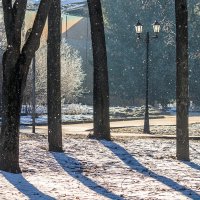
[[[110, 119], [137, 119], [143, 118], [144, 116], [144, 106], [136, 107], [110, 107]], [[22, 111], [25, 110], [24, 106]], [[23, 113], [23, 112], [22, 112]], [[36, 118], [37, 124], [47, 124], [47, 109], [42, 106], [37, 106], [36, 113], [38, 117]], [[151, 118], [162, 117], [161, 112], [150, 106], [149, 113]], [[82, 122], [82, 121], [92, 121], [93, 120], [93, 108], [92, 106], [81, 105], [81, 104], [68, 104], [62, 107], [62, 122]], [[21, 124], [31, 125], [32, 117], [31, 115], [21, 116]]]

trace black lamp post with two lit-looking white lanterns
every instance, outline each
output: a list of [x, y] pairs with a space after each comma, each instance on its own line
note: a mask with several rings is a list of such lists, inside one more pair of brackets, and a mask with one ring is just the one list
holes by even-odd
[[[138, 34], [138, 39], [141, 39], [141, 33], [142, 33], [142, 24], [138, 21], [138, 23], [135, 25], [136, 33]], [[155, 21], [153, 24], [153, 31], [155, 35], [152, 38], [158, 38], [158, 33], [160, 32], [160, 24]], [[149, 32], [146, 33], [146, 96], [145, 96], [145, 116], [144, 116], [144, 133], [150, 133], [149, 128]]]

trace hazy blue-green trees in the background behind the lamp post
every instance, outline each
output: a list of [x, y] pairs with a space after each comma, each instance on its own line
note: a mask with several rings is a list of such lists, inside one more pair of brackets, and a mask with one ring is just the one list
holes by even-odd
[[[158, 40], [150, 42], [150, 104], [166, 106], [175, 100], [175, 2], [103, 0], [111, 97], [121, 97], [122, 104], [143, 104], [145, 98], [145, 44], [137, 40], [138, 20], [144, 32], [152, 23], [161, 23]], [[190, 100], [200, 105], [200, 3], [191, 0], [189, 12]], [[124, 103], [123, 103], [124, 102]], [[112, 99], [111, 99], [112, 104]]]

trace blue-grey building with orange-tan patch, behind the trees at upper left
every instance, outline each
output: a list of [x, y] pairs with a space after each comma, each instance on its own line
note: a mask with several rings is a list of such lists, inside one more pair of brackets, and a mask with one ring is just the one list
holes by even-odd
[[[26, 14], [25, 32], [31, 28], [39, 1], [29, 4]], [[93, 61], [91, 48], [91, 34], [88, 7], [85, 0], [62, 1], [62, 41], [67, 42], [75, 50], [80, 52], [83, 60], [83, 71], [86, 74], [83, 82], [84, 93], [79, 98], [83, 104], [92, 104], [93, 94]], [[42, 42], [47, 40], [48, 27], [44, 28]]]

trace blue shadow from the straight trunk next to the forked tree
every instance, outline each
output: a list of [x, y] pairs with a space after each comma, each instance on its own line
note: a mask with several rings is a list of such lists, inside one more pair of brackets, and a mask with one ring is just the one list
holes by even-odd
[[84, 176], [83, 173], [83, 166], [82, 164], [66, 155], [65, 153], [54, 153], [52, 152], [52, 155], [56, 159], [56, 161], [60, 164], [60, 166], [73, 178], [80, 181], [83, 185], [88, 187], [89, 189], [93, 190], [94, 192], [107, 197], [109, 199], [115, 199], [115, 200], [123, 200], [124, 198], [108, 191], [106, 188], [98, 185], [96, 182], [91, 180], [90, 178]]

